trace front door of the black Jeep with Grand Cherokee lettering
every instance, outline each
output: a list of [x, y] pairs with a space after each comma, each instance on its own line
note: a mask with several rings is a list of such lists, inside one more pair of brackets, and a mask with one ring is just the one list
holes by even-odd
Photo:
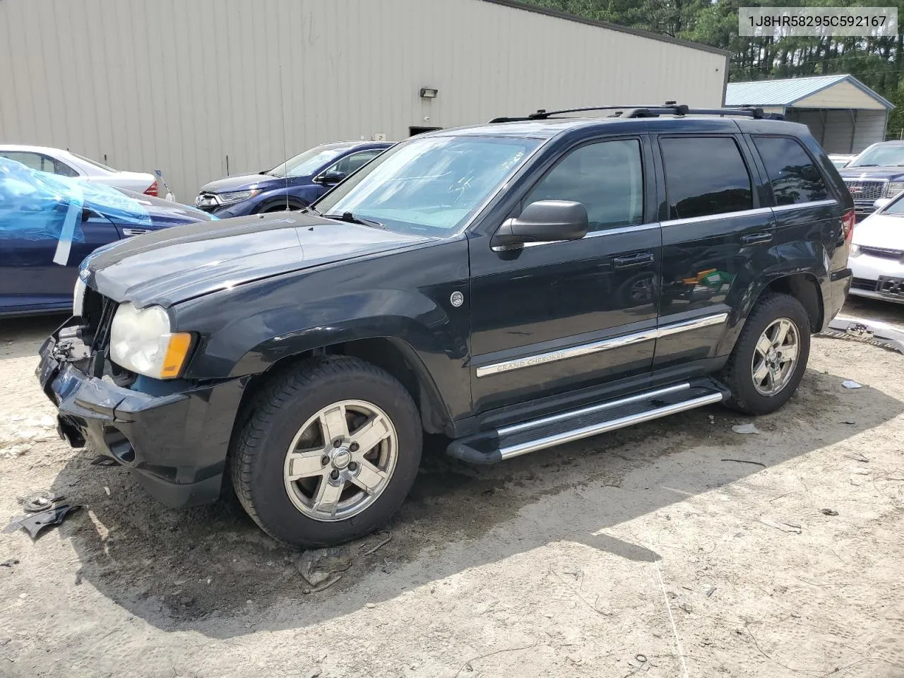
[[659, 224], [641, 137], [570, 150], [521, 202], [581, 202], [582, 240], [493, 250], [471, 240], [471, 384], [476, 412], [650, 370]]

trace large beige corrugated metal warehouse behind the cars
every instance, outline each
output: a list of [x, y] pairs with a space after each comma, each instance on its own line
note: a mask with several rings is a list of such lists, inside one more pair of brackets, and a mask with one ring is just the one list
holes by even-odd
[[719, 106], [728, 75], [727, 52], [508, 0], [2, 0], [0, 35], [0, 142], [160, 169], [182, 202], [325, 141]]

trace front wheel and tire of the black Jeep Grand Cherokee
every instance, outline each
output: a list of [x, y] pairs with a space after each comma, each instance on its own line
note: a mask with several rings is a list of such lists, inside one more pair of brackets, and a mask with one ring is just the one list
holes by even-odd
[[344, 356], [310, 360], [254, 400], [230, 474], [264, 532], [329, 546], [390, 519], [414, 483], [421, 444], [414, 401], [389, 373]]

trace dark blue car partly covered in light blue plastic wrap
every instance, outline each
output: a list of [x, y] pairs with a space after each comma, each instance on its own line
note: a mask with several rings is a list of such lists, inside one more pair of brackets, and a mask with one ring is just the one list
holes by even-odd
[[123, 238], [211, 214], [0, 157], [0, 316], [71, 311], [79, 264]]

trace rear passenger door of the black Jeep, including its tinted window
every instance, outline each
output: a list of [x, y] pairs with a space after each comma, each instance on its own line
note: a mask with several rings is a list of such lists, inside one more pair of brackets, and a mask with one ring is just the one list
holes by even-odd
[[660, 135], [662, 293], [654, 369], [715, 357], [732, 308], [772, 266], [772, 210], [739, 134]]

